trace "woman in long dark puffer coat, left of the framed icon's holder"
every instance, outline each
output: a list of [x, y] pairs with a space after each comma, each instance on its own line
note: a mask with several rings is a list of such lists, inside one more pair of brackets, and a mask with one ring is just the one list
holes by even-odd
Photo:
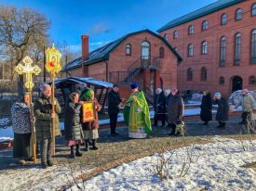
[[[71, 147], [71, 158], [81, 157], [80, 144], [83, 140], [83, 131], [80, 122], [80, 110], [83, 102], [78, 102], [79, 95], [72, 93], [69, 96], [66, 108], [65, 108], [65, 139], [67, 140], [67, 146]], [[76, 147], [74, 155], [74, 145]]]

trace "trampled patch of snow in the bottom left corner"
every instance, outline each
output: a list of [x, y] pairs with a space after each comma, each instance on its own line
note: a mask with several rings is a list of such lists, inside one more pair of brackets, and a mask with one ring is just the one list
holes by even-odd
[[[69, 185], [74, 177], [90, 170], [81, 170], [80, 166], [73, 167], [69, 164], [58, 164], [43, 170], [40, 165], [8, 169], [0, 173], [2, 191], [10, 190], [63, 190], [61, 185]], [[58, 189], [59, 188], [59, 189]]]

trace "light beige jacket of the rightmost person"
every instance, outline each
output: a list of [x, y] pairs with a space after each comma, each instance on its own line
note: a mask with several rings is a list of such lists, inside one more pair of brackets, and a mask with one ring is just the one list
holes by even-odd
[[239, 97], [236, 107], [238, 106], [242, 106], [243, 112], [250, 112], [256, 109], [255, 100], [249, 93]]

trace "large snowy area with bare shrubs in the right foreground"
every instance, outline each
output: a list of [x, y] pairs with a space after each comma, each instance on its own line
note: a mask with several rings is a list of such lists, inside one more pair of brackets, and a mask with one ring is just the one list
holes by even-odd
[[[249, 144], [249, 142], [243, 142]], [[252, 145], [251, 145], [252, 144]], [[242, 165], [256, 161], [256, 141], [244, 151], [240, 141], [216, 137], [215, 143], [166, 151], [164, 159], [169, 177], [161, 181], [155, 174], [159, 155], [124, 163], [108, 172], [101, 172], [81, 187], [84, 190], [256, 190], [256, 169]], [[188, 172], [180, 176], [182, 164], [192, 163]], [[200, 157], [199, 157], [200, 156]], [[197, 161], [195, 161], [198, 159]], [[188, 167], [186, 163], [185, 170]], [[8, 179], [7, 179], [8, 180]], [[74, 185], [70, 190], [77, 190]]]

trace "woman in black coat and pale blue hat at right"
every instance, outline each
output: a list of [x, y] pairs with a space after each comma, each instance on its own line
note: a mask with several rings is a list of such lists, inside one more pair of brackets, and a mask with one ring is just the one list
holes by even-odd
[[229, 106], [227, 100], [221, 95], [221, 93], [217, 92], [214, 95], [213, 104], [218, 105], [217, 113], [216, 113], [216, 121], [219, 121], [218, 128], [224, 128], [226, 121], [228, 121], [228, 111]]

